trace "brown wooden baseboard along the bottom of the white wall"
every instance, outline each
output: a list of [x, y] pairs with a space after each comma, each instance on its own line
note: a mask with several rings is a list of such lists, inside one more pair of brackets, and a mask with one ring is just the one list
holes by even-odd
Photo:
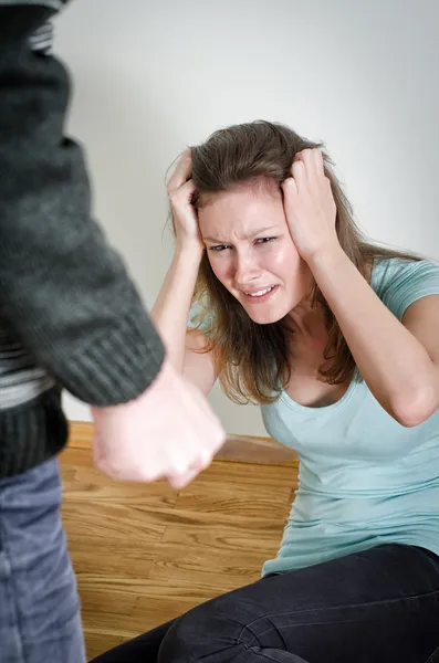
[[[90, 449], [92, 438], [92, 423], [85, 421], [70, 422], [70, 446]], [[255, 435], [228, 435], [216, 459], [263, 465], [297, 465], [297, 456], [291, 449], [282, 446], [272, 438], [258, 438]]]

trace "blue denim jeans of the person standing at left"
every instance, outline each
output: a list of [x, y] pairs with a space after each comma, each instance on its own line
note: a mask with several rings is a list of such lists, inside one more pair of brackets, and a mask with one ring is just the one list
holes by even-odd
[[58, 460], [0, 481], [0, 663], [84, 663]]

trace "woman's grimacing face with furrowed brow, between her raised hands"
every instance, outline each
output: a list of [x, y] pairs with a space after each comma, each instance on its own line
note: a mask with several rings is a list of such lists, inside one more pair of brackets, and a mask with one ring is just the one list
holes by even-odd
[[255, 323], [280, 320], [310, 293], [274, 180], [215, 194], [198, 219], [215, 275]]

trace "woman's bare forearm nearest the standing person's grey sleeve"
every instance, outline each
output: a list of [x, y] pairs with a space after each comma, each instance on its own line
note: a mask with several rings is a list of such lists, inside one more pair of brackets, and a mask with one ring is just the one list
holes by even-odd
[[151, 309], [167, 357], [182, 372], [185, 339], [191, 298], [201, 254], [191, 246], [177, 245], [173, 262]]

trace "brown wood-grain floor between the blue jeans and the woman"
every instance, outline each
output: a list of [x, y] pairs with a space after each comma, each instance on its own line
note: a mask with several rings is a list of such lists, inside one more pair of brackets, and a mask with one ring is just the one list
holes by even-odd
[[116, 483], [93, 469], [90, 436], [73, 432], [61, 467], [91, 659], [257, 580], [276, 552], [297, 467], [216, 460], [180, 492]]

